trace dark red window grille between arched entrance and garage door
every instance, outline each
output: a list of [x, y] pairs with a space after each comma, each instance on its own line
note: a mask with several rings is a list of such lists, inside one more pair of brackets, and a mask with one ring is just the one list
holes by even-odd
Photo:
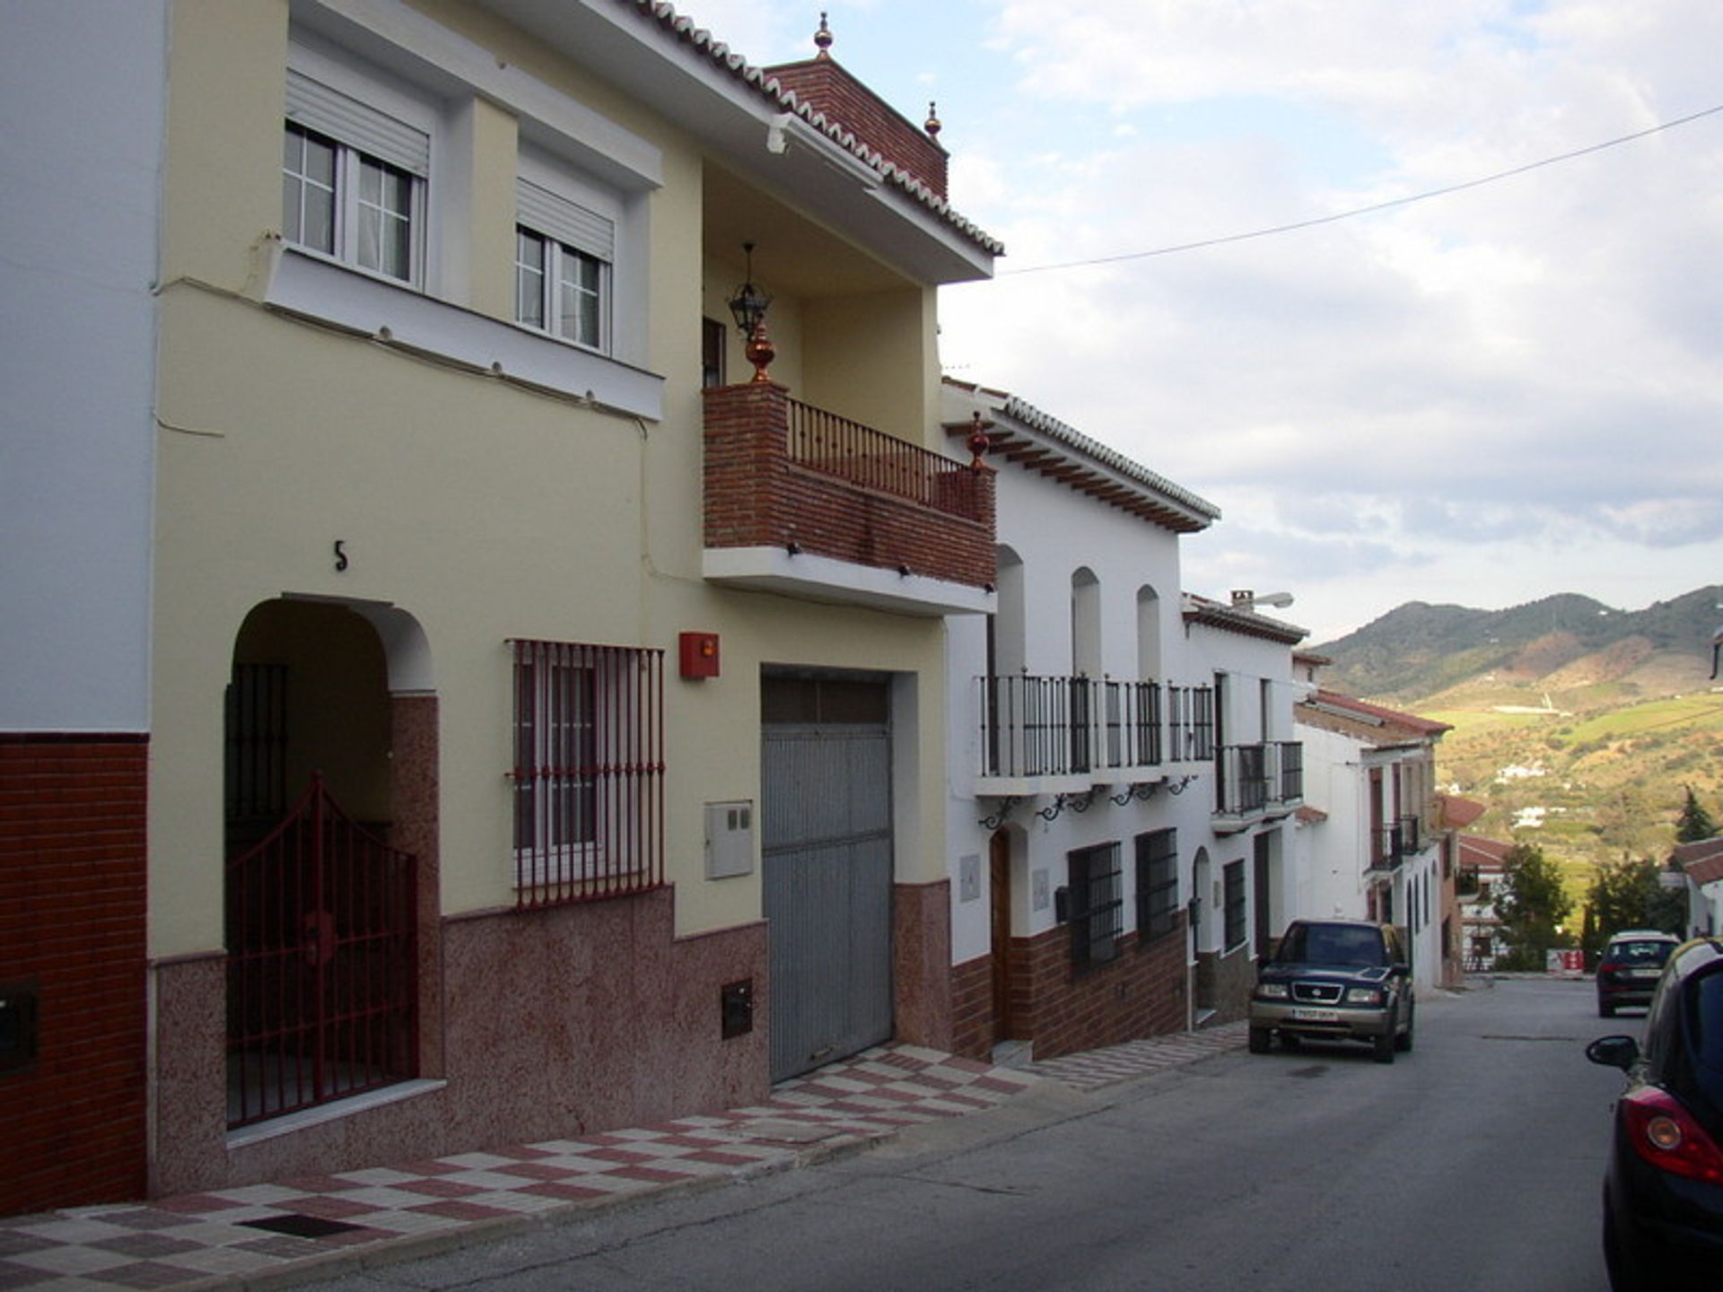
[[520, 906], [663, 884], [663, 651], [515, 641]]

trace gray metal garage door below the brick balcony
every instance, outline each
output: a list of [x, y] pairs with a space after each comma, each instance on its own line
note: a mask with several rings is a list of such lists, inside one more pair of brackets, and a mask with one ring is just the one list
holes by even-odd
[[893, 1034], [889, 729], [768, 720], [762, 782], [781, 1082]]

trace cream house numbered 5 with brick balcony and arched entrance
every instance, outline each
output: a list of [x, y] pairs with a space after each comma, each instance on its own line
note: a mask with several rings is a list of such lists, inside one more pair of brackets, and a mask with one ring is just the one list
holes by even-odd
[[[999, 248], [937, 126], [662, 3], [157, 9], [150, 1189], [941, 1042], [941, 617], [992, 520], [936, 289]], [[768, 932], [822, 848], [884, 867], [834, 899], [874, 996], [777, 1053], [855, 977]]]

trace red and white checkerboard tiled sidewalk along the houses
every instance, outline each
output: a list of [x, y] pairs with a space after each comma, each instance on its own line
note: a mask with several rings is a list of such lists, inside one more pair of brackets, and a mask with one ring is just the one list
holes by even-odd
[[14, 1216], [0, 1220], [0, 1292], [200, 1292], [334, 1276], [383, 1252], [429, 1254], [551, 1213], [815, 1161], [908, 1125], [992, 1108], [1041, 1080], [1098, 1089], [1242, 1046], [1244, 1027], [1228, 1025], [1029, 1071], [882, 1046], [786, 1082], [756, 1108], [146, 1206]]

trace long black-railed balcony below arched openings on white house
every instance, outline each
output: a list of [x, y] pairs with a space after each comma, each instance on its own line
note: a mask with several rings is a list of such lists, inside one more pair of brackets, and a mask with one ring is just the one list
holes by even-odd
[[1160, 780], [1161, 687], [1087, 677], [977, 677], [975, 792], [1027, 798]]

